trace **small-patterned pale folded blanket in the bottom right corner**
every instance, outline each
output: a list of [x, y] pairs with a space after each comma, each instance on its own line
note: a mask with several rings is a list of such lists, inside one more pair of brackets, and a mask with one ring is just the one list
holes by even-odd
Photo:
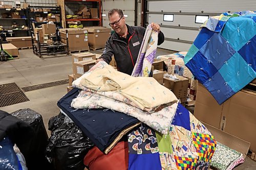
[[231, 170], [244, 162], [243, 154], [217, 142], [217, 148], [210, 165], [219, 170]]

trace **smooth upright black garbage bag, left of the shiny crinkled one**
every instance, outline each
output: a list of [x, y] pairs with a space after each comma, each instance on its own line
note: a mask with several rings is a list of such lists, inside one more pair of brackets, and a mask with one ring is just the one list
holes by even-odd
[[53, 169], [53, 166], [46, 158], [48, 135], [41, 114], [27, 108], [12, 112], [11, 115], [28, 123], [34, 131], [33, 137], [30, 137], [24, 143], [26, 149], [20, 148], [20, 151], [22, 151], [25, 157], [28, 169]]

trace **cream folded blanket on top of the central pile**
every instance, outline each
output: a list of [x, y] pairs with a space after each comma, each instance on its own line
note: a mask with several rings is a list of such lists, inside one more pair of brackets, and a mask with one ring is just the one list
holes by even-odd
[[73, 82], [73, 85], [77, 84], [97, 91], [120, 93], [141, 110], [178, 101], [172, 91], [160, 85], [154, 78], [126, 75], [104, 61], [98, 62], [88, 73]]

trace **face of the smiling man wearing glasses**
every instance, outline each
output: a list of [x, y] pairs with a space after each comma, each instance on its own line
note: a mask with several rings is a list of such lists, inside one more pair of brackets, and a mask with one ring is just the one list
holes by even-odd
[[[111, 25], [112, 29], [118, 34], [121, 32], [121, 30], [125, 26], [125, 19], [123, 16], [119, 16], [117, 12], [115, 12], [113, 15], [109, 18], [110, 23], [115, 23], [114, 25]], [[119, 21], [119, 23], [118, 23]], [[116, 24], [118, 23], [118, 24]]]

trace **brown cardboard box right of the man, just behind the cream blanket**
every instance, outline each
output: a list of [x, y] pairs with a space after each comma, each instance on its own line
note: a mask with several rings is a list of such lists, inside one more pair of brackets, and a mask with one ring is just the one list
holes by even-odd
[[177, 76], [177, 78], [179, 78], [179, 80], [164, 78], [163, 84], [166, 88], [171, 89], [173, 91], [177, 99], [181, 100], [181, 103], [184, 103], [187, 100], [188, 79], [182, 76]]

